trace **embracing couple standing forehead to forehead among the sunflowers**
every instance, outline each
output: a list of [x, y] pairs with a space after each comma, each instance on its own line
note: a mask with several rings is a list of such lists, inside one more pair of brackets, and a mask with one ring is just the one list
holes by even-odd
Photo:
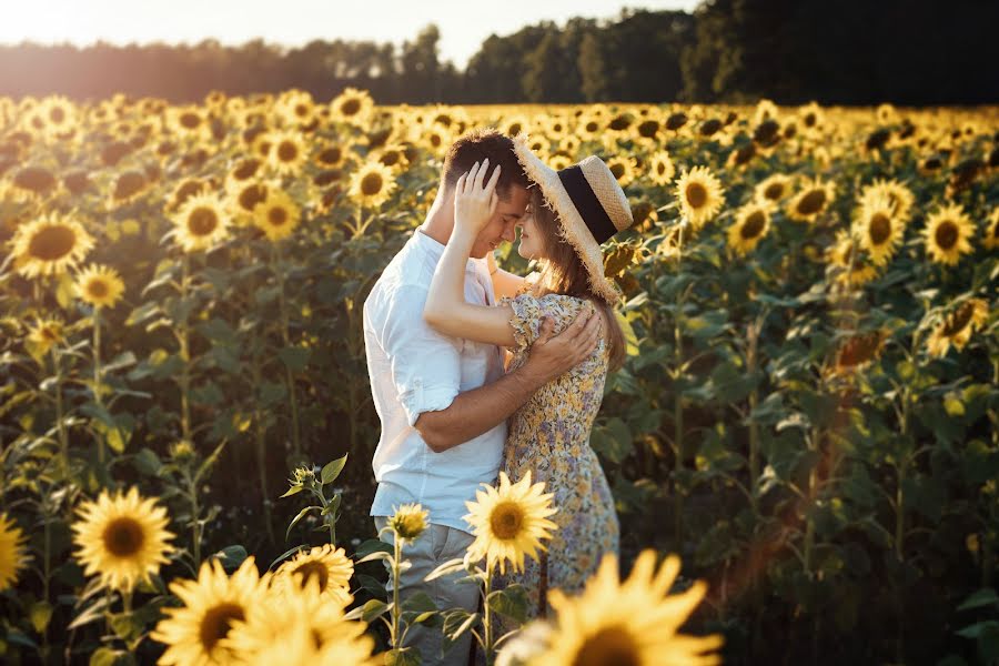
[[[500, 471], [514, 483], [531, 473], [558, 509], [541, 562], [505, 578], [527, 589], [529, 616], [547, 613], [547, 589], [582, 591], [601, 558], [617, 553], [614, 500], [589, 434], [607, 372], [624, 359], [601, 244], [630, 224], [597, 157], [554, 171], [524, 138], [493, 130], [450, 148], [426, 221], [364, 303], [382, 423], [371, 515], [381, 532], [402, 504], [430, 512], [427, 529], [403, 548], [412, 563], [398, 582], [403, 599], [425, 592], [438, 608], [477, 609], [478, 586], [454, 584], [464, 572], [423, 578], [464, 556], [474, 541], [465, 502]], [[531, 282], [493, 258], [517, 226], [518, 253], [541, 269]], [[416, 626], [410, 637], [424, 664], [467, 663], [467, 633], [446, 655], [440, 630]]]

